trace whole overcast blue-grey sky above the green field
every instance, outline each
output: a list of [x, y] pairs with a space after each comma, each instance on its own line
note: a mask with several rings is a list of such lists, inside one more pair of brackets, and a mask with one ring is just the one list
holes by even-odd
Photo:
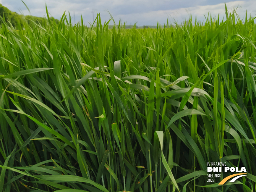
[[[255, 0], [24, 0], [30, 9], [31, 15], [45, 16], [45, 4], [51, 16], [59, 19], [64, 11], [71, 14], [72, 21], [79, 22], [82, 15], [84, 23], [89, 25], [97, 13], [101, 13], [101, 20], [108, 21], [111, 13], [115, 22], [121, 20], [127, 25], [137, 23], [138, 26], [182, 22], [197, 17], [203, 21], [208, 12], [212, 16], [225, 15], [225, 5], [229, 11], [236, 9], [240, 18], [245, 17], [245, 11], [256, 16]], [[29, 15], [26, 6], [21, 0], [0, 0], [0, 3], [11, 11]], [[74, 16], [75, 15], [75, 16]]]

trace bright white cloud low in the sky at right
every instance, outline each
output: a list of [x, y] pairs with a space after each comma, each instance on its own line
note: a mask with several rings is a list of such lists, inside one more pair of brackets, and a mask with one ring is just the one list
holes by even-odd
[[[256, 10], [256, 1], [234, 1], [227, 3], [227, 9], [232, 11], [236, 9], [236, 13], [240, 16], [240, 18], [245, 17], [245, 12], [247, 10], [248, 14], [251, 13], [252, 16], [255, 16]], [[157, 21], [159, 23], [167, 23], [168, 21], [174, 22], [177, 21], [178, 23], [188, 19], [190, 14], [192, 15], [193, 20], [197, 17], [197, 21], [205, 20], [205, 16], [207, 17], [208, 13], [213, 17], [223, 18], [225, 15], [225, 4], [221, 3], [218, 5], [204, 5], [204, 6], [195, 6], [195, 7], [188, 7], [188, 8], [179, 8], [179, 9], [170, 9], [170, 10], [159, 10], [159, 11], [150, 11], [147, 13], [136, 13], [136, 14], [129, 14], [129, 15], [118, 15], [120, 18], [129, 18], [131, 23], [138, 22], [141, 25], [152, 25], [156, 24]]]

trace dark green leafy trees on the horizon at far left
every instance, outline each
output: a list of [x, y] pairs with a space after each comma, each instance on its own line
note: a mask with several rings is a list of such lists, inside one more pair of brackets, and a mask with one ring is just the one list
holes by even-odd
[[[42, 26], [47, 24], [46, 18], [31, 15], [20, 15], [16, 12], [10, 11], [7, 7], [4, 7], [2, 4], [0, 4], [0, 16], [5, 18], [5, 22], [7, 22], [9, 25], [11, 24], [13, 27], [17, 29], [20, 29], [20, 27], [24, 27], [24, 22], [26, 21], [28, 22], [29, 25], [31, 25], [33, 21]], [[50, 20], [52, 22], [55, 21], [57, 24], [59, 23], [59, 20], [53, 17], [50, 17]], [[2, 24], [2, 21], [0, 21], [0, 24]]]

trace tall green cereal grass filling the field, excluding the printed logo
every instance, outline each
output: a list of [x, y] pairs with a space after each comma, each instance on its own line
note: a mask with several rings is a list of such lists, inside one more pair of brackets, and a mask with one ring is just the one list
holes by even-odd
[[[0, 29], [0, 192], [253, 191], [256, 26]], [[245, 166], [219, 187], [207, 162]], [[230, 173], [223, 173], [223, 178]]]

